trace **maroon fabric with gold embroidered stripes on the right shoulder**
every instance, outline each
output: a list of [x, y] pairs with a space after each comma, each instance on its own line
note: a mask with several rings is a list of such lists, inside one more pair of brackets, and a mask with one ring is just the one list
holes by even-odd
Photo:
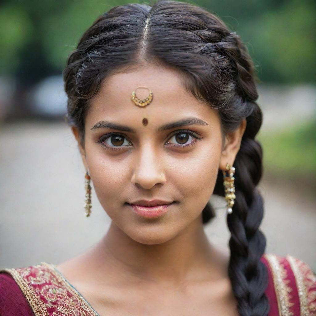
[[316, 314], [316, 274], [305, 261], [272, 253], [264, 254], [261, 261], [268, 268], [268, 294], [281, 309], [294, 315]]

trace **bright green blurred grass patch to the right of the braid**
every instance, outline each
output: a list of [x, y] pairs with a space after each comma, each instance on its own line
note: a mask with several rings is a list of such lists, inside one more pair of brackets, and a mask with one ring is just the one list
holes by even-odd
[[289, 126], [286, 130], [258, 135], [264, 153], [264, 168], [292, 176], [316, 176], [316, 120]]

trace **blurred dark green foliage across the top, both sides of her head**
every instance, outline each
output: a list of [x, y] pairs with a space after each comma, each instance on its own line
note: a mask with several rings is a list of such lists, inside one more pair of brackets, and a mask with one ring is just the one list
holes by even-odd
[[[60, 73], [92, 22], [113, 6], [130, 2], [142, 1], [4, 0], [0, 4], [1, 72], [18, 76], [32, 72], [35, 81]], [[316, 82], [314, 1], [187, 2], [218, 15], [240, 34], [262, 82]]]

